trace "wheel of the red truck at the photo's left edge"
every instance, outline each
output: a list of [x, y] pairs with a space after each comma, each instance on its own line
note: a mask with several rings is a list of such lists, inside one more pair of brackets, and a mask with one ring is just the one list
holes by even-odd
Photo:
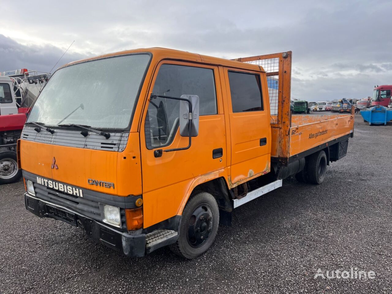
[[18, 160], [13, 151], [0, 152], [0, 185], [14, 183], [22, 176], [18, 169]]

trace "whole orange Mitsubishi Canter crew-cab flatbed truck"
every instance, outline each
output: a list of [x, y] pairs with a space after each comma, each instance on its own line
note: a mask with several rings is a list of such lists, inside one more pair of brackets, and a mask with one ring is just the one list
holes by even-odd
[[291, 56], [151, 48], [64, 65], [18, 142], [26, 209], [126, 256], [199, 256], [233, 209], [293, 175], [321, 184], [347, 153], [353, 112], [290, 115]]

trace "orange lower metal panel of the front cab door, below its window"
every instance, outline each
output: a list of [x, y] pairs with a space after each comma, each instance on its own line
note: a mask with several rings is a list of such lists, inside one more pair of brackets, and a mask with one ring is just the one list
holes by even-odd
[[[140, 133], [141, 145], [145, 143]], [[188, 138], [176, 136], [165, 149], [188, 145]], [[163, 152], [155, 158], [154, 150], [142, 148], [144, 226], [148, 227], [178, 213], [187, 200], [187, 191], [196, 178], [226, 167], [226, 138], [223, 114], [200, 116], [199, 135], [192, 138], [188, 150]], [[212, 150], [223, 149], [222, 158], [212, 158]]]

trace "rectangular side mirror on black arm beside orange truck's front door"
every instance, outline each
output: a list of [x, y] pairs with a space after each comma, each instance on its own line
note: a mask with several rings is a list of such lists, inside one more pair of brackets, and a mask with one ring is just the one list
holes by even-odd
[[180, 136], [189, 137], [189, 123], [192, 123], [192, 137], [199, 134], [199, 96], [181, 95], [181, 98], [187, 99], [192, 103], [192, 120], [189, 120], [189, 103], [180, 100]]

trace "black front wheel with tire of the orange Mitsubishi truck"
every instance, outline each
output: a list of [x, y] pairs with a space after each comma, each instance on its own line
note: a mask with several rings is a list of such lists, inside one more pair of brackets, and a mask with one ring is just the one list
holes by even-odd
[[219, 209], [214, 196], [207, 192], [195, 194], [185, 205], [178, 240], [170, 249], [187, 259], [196, 258], [211, 247], [218, 224]]

